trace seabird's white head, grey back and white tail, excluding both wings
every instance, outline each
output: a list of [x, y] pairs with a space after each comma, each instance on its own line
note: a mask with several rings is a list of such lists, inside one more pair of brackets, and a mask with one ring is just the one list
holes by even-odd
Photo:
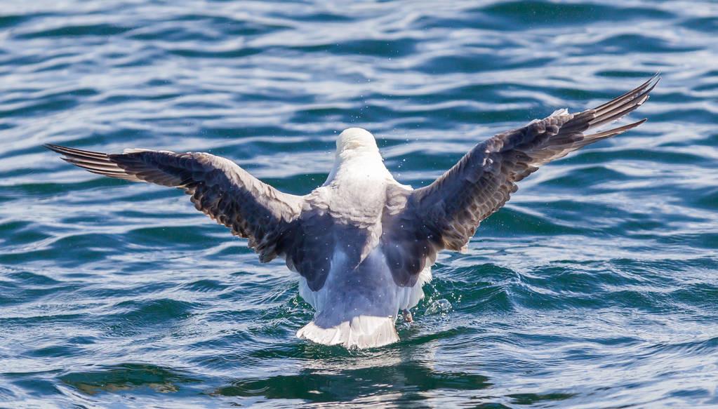
[[[381, 236], [387, 198], [395, 191], [410, 192], [411, 187], [391, 176], [373, 136], [361, 128], [343, 131], [334, 169], [327, 182], [308, 195], [300, 215], [309, 221], [302, 235], [329, 232], [332, 238], [324, 243], [334, 245], [325, 255], [330, 264], [323, 286], [314, 291], [307, 278], [299, 279], [299, 294], [317, 311], [299, 337], [357, 347], [398, 341], [398, 311], [411, 309], [424, 296], [421, 286], [431, 279], [431, 267], [424, 268], [413, 286], [398, 286], [392, 277]], [[312, 223], [325, 216], [332, 228]]]

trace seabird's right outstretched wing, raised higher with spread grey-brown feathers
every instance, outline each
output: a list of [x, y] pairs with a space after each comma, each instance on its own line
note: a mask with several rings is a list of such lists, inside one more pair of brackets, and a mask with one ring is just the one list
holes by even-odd
[[384, 238], [397, 283], [413, 285], [437, 251], [465, 249], [479, 223], [499, 210], [516, 192], [516, 182], [538, 166], [643, 123], [645, 119], [592, 132], [645, 103], [658, 80], [656, 75], [596, 108], [581, 113], [556, 111], [523, 128], [499, 133], [475, 146], [429, 186], [404, 194], [404, 210], [389, 220], [392, 227], [385, 230]]

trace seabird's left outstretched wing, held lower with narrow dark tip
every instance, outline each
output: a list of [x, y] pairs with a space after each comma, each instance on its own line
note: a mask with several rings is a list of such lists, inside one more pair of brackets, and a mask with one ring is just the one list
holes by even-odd
[[279, 192], [233, 161], [211, 154], [143, 149], [103, 154], [45, 146], [95, 174], [183, 189], [197, 210], [248, 238], [263, 262], [286, 253], [302, 210], [302, 197]]

